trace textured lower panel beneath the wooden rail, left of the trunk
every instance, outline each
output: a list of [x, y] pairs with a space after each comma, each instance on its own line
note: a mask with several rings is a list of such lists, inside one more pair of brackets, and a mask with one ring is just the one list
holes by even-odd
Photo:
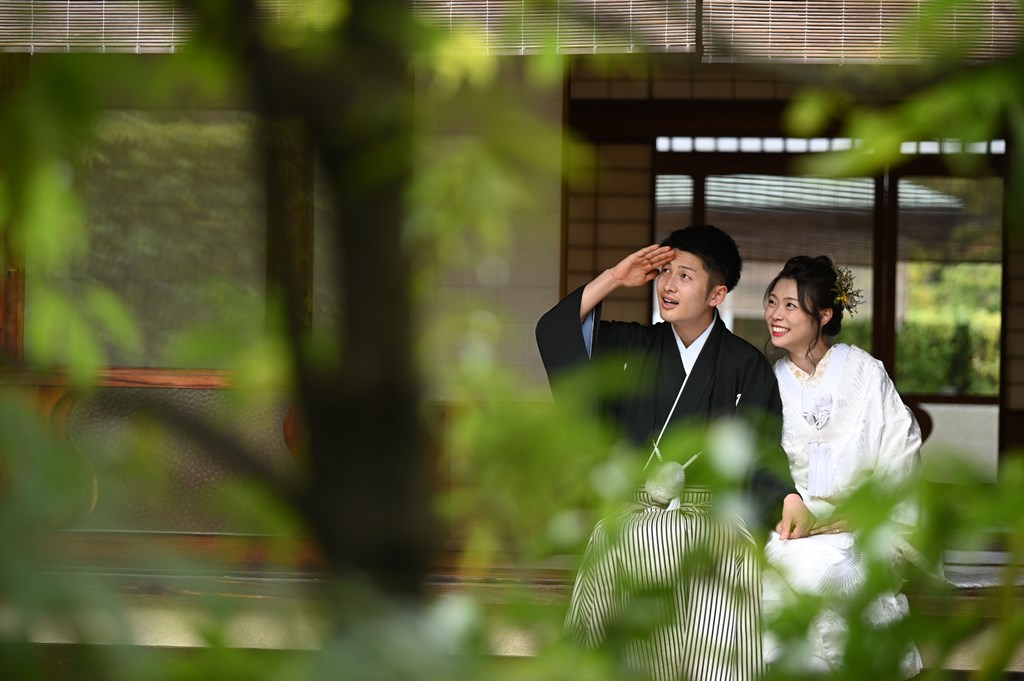
[[[71, 401], [68, 438], [88, 462], [97, 497], [80, 529], [265, 533], [256, 513], [231, 512], [225, 486], [247, 478], [247, 467], [213, 442], [176, 428], [154, 429], [153, 403], [218, 424], [260, 466], [293, 474], [295, 460], [282, 436], [288, 402], [261, 392], [244, 401], [226, 390], [103, 388]], [[225, 512], [226, 511], [226, 512]]]

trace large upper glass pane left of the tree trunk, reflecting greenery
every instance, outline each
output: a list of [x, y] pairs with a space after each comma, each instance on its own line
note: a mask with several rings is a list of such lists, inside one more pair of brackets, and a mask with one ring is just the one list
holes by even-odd
[[[199, 338], [186, 333], [197, 329], [215, 329], [205, 337], [219, 339], [221, 351], [262, 332], [266, 220], [256, 125], [244, 112], [103, 117], [74, 167], [89, 246], [69, 271], [27, 278], [27, 358], [45, 341], [34, 317], [45, 286], [76, 300], [98, 285], [124, 302], [142, 347], [110, 347], [112, 365], [181, 367], [179, 341]], [[217, 348], [208, 349], [204, 368], [219, 368]]]

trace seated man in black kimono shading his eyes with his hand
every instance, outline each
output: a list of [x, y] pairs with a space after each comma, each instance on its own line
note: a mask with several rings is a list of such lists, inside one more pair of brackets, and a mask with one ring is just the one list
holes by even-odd
[[[588, 368], [592, 358], [613, 360], [609, 374], [616, 384], [602, 386], [602, 394], [605, 388], [608, 393], [598, 398], [601, 414], [638, 446], [656, 450], [660, 459], [660, 438], [670, 425], [738, 417], [783, 465], [774, 373], [761, 351], [730, 333], [717, 313], [741, 269], [735, 242], [713, 225], [676, 230], [659, 246], [627, 256], [538, 323], [552, 390], [557, 395], [562, 389], [564, 372]], [[651, 281], [664, 322], [601, 321], [601, 302], [610, 293]], [[670, 459], [689, 454], [666, 452]], [[715, 462], [702, 458], [687, 475], [707, 483]], [[781, 516], [777, 526], [784, 537], [807, 531], [813, 516], [795, 488], [758, 465], [751, 467], [745, 487], [765, 526]], [[652, 679], [757, 678], [761, 594], [754, 542], [742, 520], [724, 521], [712, 510], [711, 493], [683, 494], [685, 501], [677, 499], [668, 509], [641, 495], [612, 522], [598, 524], [566, 629], [590, 647], [614, 638], [622, 662]], [[710, 579], [712, 573], [717, 577]], [[644, 620], [655, 603], [660, 614]], [[631, 629], [638, 618], [648, 625], [645, 631]]]

